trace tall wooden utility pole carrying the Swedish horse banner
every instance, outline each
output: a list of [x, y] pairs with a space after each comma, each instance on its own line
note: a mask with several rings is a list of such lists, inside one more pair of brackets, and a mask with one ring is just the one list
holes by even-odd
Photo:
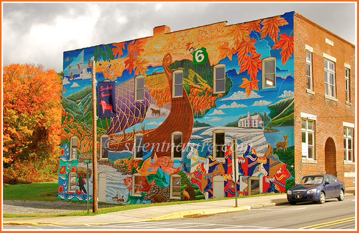
[[96, 69], [91, 65], [92, 80], [92, 212], [97, 213], [97, 114], [96, 114]]

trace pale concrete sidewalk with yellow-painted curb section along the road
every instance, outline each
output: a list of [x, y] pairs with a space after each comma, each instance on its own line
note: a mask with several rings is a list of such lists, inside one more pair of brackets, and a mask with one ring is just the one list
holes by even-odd
[[[355, 188], [348, 188], [345, 196], [355, 195]], [[225, 213], [249, 209], [258, 209], [271, 206], [288, 204], [287, 195], [268, 195], [260, 197], [247, 197], [235, 199], [180, 204], [172, 206], [153, 206], [135, 210], [125, 210], [94, 216], [63, 216], [63, 217], [29, 217], [29, 218], [3, 218], [5, 224], [31, 224], [31, 225], [74, 225], [74, 224], [108, 224], [135, 221], [154, 221], [174, 218], [183, 218], [186, 216], [196, 216], [205, 214]]]

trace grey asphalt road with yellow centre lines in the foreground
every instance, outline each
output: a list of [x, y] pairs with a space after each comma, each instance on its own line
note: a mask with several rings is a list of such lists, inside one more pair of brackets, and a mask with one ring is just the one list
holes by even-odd
[[181, 219], [101, 225], [3, 225], [4, 230], [273, 230], [273, 229], [356, 229], [356, 199], [327, 200], [324, 204], [301, 203], [254, 210]]

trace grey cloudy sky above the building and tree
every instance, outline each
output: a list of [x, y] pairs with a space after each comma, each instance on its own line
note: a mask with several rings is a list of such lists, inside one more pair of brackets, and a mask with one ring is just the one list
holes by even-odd
[[42, 64], [62, 71], [63, 52], [227, 21], [227, 25], [296, 11], [357, 44], [356, 2], [2, 2], [2, 65]]

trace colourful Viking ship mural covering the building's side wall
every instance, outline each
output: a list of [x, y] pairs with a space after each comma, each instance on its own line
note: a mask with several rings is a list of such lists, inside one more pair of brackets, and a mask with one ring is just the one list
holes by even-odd
[[[116, 92], [116, 116], [97, 120], [100, 201], [286, 192], [294, 183], [293, 14], [64, 52], [58, 198], [92, 199], [92, 164], [87, 174], [84, 163], [92, 157], [92, 61], [96, 80], [114, 81]], [[218, 64], [225, 68], [221, 93], [214, 87]], [[179, 89], [176, 70], [183, 74]], [[143, 98], [137, 100], [139, 75]], [[214, 132], [223, 133], [221, 158], [214, 155]], [[238, 140], [237, 161], [232, 139]]]

